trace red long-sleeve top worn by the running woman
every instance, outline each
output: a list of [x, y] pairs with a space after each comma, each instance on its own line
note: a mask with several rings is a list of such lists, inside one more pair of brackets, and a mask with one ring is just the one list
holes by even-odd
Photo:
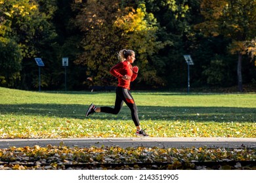
[[[137, 74], [133, 73], [133, 67], [129, 61], [122, 61], [117, 63], [114, 67], [110, 69], [110, 73], [118, 78], [119, 87], [127, 88], [130, 90], [130, 83], [137, 78]], [[123, 80], [124, 75], [131, 76], [131, 80]]]

